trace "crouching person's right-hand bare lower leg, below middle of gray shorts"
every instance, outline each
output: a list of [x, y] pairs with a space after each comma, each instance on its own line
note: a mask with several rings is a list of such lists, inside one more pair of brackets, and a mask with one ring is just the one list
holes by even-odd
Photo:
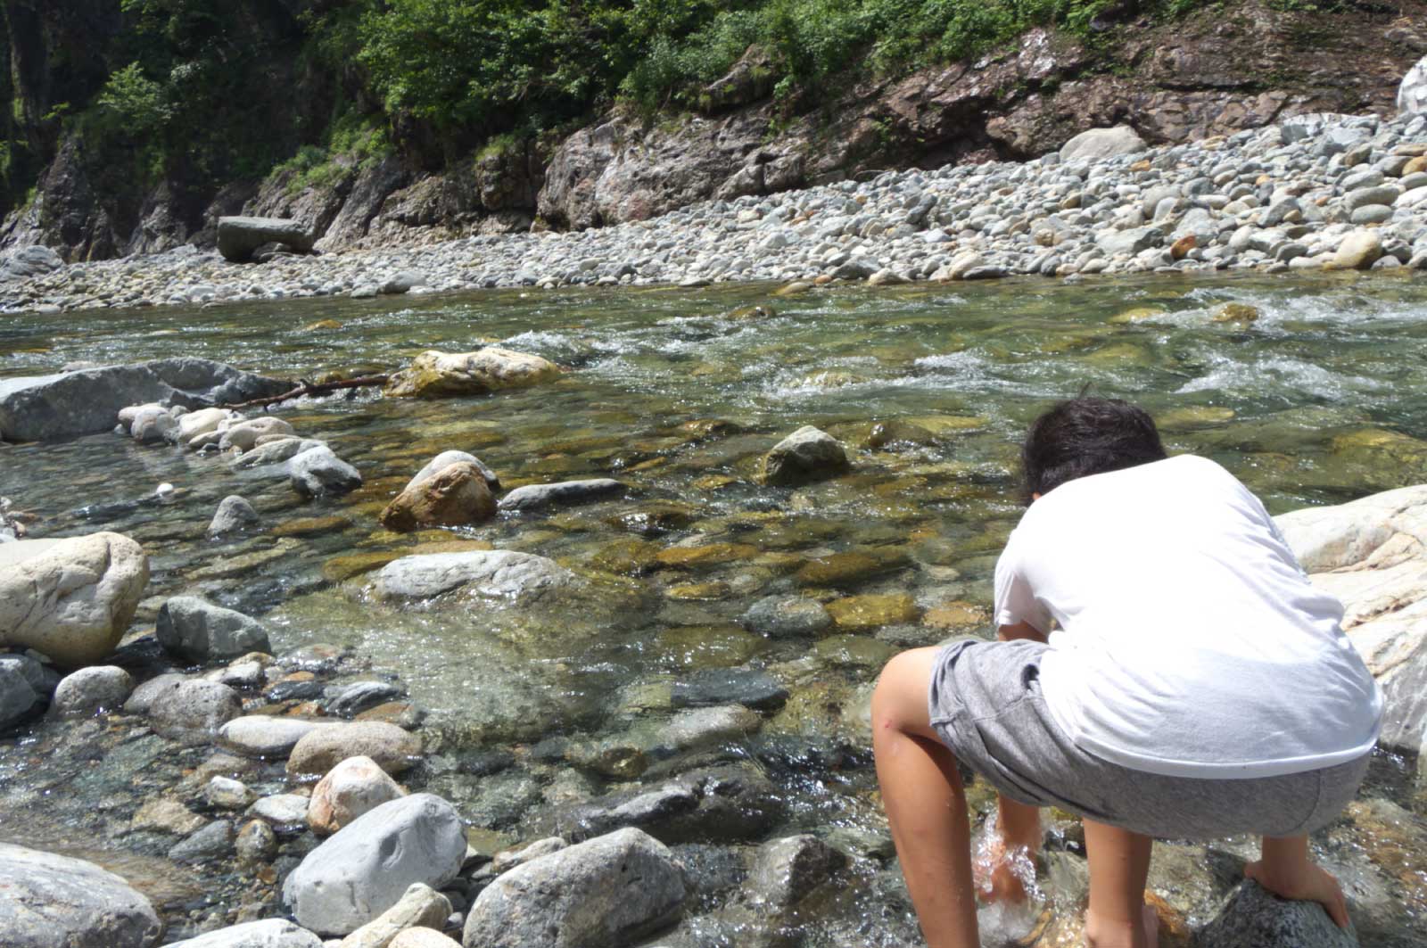
[[1090, 862], [1086, 944], [1090, 948], [1154, 948], [1159, 917], [1144, 904], [1150, 838], [1086, 820], [1085, 845]]

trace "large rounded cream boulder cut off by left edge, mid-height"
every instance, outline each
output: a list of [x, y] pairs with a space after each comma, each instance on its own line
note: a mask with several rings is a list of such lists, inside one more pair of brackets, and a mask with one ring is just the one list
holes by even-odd
[[147, 583], [144, 548], [120, 534], [0, 544], [0, 645], [64, 667], [98, 661], [118, 645]]

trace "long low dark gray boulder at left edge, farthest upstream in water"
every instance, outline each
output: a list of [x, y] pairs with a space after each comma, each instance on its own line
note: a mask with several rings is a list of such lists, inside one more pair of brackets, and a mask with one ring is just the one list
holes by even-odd
[[51, 441], [114, 427], [128, 405], [204, 408], [291, 391], [293, 383], [207, 358], [156, 358], [0, 380], [0, 440]]

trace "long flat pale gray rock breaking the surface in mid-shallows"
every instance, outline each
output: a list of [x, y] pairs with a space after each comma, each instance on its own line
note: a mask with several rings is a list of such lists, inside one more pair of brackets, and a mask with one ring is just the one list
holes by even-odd
[[442, 592], [534, 602], [575, 583], [554, 560], [511, 550], [428, 553], [392, 560], [377, 574], [385, 600], [428, 600]]

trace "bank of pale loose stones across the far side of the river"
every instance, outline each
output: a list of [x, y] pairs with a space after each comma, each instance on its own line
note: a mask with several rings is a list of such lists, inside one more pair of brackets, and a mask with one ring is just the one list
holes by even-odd
[[[355, 298], [481, 287], [896, 284], [1040, 274], [1427, 268], [1427, 116], [1300, 116], [1147, 148], [1129, 128], [1035, 161], [888, 171], [578, 233], [233, 264], [193, 247], [64, 266], [0, 311]], [[799, 287], [801, 288], [801, 287]]]

